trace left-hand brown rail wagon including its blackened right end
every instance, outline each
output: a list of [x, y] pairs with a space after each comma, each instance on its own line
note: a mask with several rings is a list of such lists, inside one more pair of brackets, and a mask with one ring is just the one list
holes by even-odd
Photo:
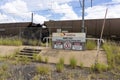
[[49, 31], [42, 26], [41, 24], [31, 22], [3, 23], [0, 24], [0, 37], [8, 38], [17, 36], [28, 40], [37, 39], [43, 41], [44, 37], [49, 36]]

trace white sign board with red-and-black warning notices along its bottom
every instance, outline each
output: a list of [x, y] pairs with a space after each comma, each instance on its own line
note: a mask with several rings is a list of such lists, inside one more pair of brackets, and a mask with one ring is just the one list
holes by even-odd
[[81, 43], [86, 42], [85, 33], [53, 33], [53, 48], [66, 50], [82, 50]]

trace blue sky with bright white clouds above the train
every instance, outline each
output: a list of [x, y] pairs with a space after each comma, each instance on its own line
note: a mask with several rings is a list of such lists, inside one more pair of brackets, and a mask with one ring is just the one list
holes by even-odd
[[[82, 0], [0, 0], [0, 23], [81, 20]], [[85, 0], [85, 19], [120, 18], [120, 0]]]

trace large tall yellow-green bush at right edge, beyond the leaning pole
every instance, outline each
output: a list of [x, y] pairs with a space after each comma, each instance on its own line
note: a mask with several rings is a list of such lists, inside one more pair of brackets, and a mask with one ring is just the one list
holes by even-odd
[[110, 69], [115, 68], [116, 64], [120, 63], [119, 46], [115, 42], [106, 41], [103, 44], [103, 49], [107, 54], [107, 61]]

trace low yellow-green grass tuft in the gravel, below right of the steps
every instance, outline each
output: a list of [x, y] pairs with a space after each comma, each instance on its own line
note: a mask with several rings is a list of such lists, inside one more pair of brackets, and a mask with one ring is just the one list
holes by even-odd
[[37, 66], [36, 71], [38, 74], [46, 75], [50, 72], [50, 69], [46, 66]]

